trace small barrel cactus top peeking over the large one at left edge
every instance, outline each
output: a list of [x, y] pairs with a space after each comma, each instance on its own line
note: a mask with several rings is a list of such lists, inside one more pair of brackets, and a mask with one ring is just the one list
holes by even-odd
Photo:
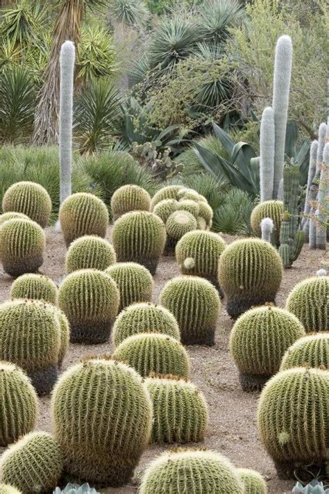
[[49, 304], [56, 304], [57, 286], [43, 274], [22, 274], [12, 283], [10, 297], [12, 300], [35, 299], [43, 300]]

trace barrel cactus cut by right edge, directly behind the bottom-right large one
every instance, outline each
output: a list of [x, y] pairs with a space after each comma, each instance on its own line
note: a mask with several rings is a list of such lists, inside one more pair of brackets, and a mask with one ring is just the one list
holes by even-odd
[[297, 340], [285, 352], [280, 370], [304, 365], [329, 370], [329, 333], [311, 334]]

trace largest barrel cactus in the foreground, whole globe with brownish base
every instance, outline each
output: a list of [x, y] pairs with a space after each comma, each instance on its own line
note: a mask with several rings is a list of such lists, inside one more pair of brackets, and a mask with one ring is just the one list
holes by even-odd
[[112, 359], [73, 365], [56, 384], [51, 409], [69, 474], [90, 484], [128, 483], [152, 427], [149, 393], [135, 370]]

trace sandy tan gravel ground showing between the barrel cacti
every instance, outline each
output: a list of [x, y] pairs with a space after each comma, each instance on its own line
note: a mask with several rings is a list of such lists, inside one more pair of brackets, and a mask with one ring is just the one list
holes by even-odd
[[[65, 243], [60, 233], [47, 229], [47, 252], [40, 272], [47, 274], [57, 281], [65, 274]], [[110, 231], [108, 232], [110, 236]], [[233, 237], [226, 236], [228, 242]], [[328, 255], [328, 254], [327, 254]], [[285, 270], [278, 305], [284, 306], [289, 290], [295, 283], [312, 276], [325, 260], [326, 254], [319, 251], [310, 251], [304, 247], [303, 253], [294, 263], [294, 267]], [[326, 258], [328, 261], [328, 257]], [[174, 258], [162, 258], [155, 275], [155, 290], [153, 299], [156, 302], [160, 290], [172, 277], [179, 274]], [[8, 299], [12, 279], [0, 271], [0, 302]], [[235, 466], [253, 468], [264, 475], [267, 480], [269, 494], [288, 494], [292, 490], [294, 481], [280, 481], [276, 470], [267, 452], [258, 440], [256, 427], [256, 409], [259, 393], [243, 393], [239, 387], [238, 374], [228, 353], [228, 338], [233, 322], [228, 317], [225, 307], [221, 311], [221, 318], [217, 324], [216, 344], [214, 347], [188, 347], [192, 366], [192, 380], [201, 388], [209, 404], [210, 424], [208, 434], [203, 445], [226, 454]], [[110, 354], [111, 344], [105, 345], [71, 345], [65, 358], [63, 369], [85, 354]], [[40, 411], [37, 428], [51, 431], [49, 413], [49, 398], [40, 399]], [[137, 472], [140, 472], [151, 459], [165, 448], [150, 447], [142, 456]], [[135, 486], [103, 490], [103, 493], [124, 494], [135, 493]]]

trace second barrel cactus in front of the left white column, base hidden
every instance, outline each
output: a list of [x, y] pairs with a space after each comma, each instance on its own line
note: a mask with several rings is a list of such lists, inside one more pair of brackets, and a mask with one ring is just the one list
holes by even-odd
[[76, 238], [67, 249], [65, 266], [67, 273], [85, 269], [103, 271], [115, 261], [115, 249], [107, 240], [85, 235]]

